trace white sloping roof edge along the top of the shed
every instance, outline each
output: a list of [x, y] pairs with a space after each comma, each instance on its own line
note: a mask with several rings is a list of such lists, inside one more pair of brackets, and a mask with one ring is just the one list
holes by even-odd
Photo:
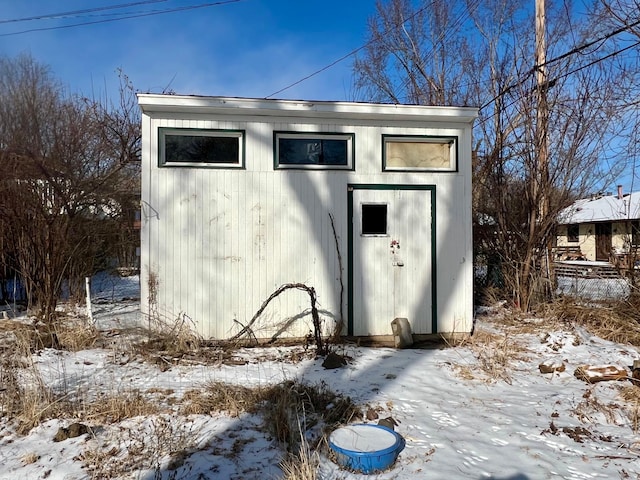
[[474, 107], [440, 107], [361, 102], [272, 100], [264, 98], [138, 94], [143, 112], [265, 115], [277, 117], [359, 118], [472, 123]]

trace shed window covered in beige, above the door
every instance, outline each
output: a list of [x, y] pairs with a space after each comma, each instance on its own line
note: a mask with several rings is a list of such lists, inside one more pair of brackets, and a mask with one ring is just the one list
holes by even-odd
[[456, 137], [382, 136], [383, 170], [455, 172]]

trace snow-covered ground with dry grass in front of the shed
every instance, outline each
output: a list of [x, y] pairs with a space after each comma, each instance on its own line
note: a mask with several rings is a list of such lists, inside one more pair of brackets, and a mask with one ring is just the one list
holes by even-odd
[[[60, 442], [53, 442], [58, 429], [77, 419], [48, 420], [19, 435], [15, 423], [2, 418], [1, 480], [111, 478], [108, 470], [96, 467], [91, 473], [87, 466], [122, 466], [136, 451], [143, 461], [133, 462], [133, 470], [120, 478], [281, 478], [282, 448], [264, 432], [260, 417], [189, 415], [180, 413], [180, 405], [185, 392], [211, 382], [261, 386], [283, 380], [326, 384], [362, 405], [363, 412], [374, 408], [380, 417], [392, 416], [406, 440], [393, 468], [373, 475], [342, 470], [321, 451], [319, 479], [640, 478], [640, 435], [634, 431], [640, 410], [621, 397], [631, 383], [591, 385], [573, 375], [580, 365], [627, 367], [640, 359], [634, 347], [579, 327], [516, 320], [497, 308], [478, 316], [476, 337], [459, 346], [335, 346], [350, 359], [338, 369], [324, 369], [321, 358], [300, 347], [238, 352], [247, 363], [167, 369], [123, 347], [118, 329], [139, 321], [136, 301], [122, 301], [136, 297], [131, 289], [137, 277], [124, 280], [131, 283], [123, 289], [120, 281], [105, 279], [101, 291], [94, 282], [100, 299], [94, 318], [111, 343], [78, 352], [44, 349], [33, 361], [54, 390], [87, 402], [98, 392], [139, 392], [161, 398], [173, 413], [95, 425], [85, 419], [91, 433]], [[293, 352], [299, 361], [291, 361]], [[268, 359], [256, 360], [261, 357]], [[542, 363], [565, 370], [543, 374]], [[189, 446], [177, 462], [166, 455], [173, 442]]]

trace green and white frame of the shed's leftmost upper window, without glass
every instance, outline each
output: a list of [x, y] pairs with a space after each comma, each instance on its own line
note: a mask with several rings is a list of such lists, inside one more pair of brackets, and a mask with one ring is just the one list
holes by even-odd
[[[231, 162], [168, 162], [166, 159], [166, 138], [167, 136], [183, 137], [214, 137], [214, 138], [237, 138], [238, 139], [238, 161]], [[158, 167], [160, 168], [225, 168], [244, 169], [245, 168], [245, 143], [246, 131], [240, 129], [219, 129], [219, 128], [182, 128], [182, 127], [158, 127]]]

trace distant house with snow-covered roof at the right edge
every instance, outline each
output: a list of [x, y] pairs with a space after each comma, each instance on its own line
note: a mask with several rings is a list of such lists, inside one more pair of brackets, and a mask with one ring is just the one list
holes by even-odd
[[559, 216], [557, 246], [574, 247], [590, 261], [625, 261], [640, 246], [640, 192], [595, 195], [576, 201]]

